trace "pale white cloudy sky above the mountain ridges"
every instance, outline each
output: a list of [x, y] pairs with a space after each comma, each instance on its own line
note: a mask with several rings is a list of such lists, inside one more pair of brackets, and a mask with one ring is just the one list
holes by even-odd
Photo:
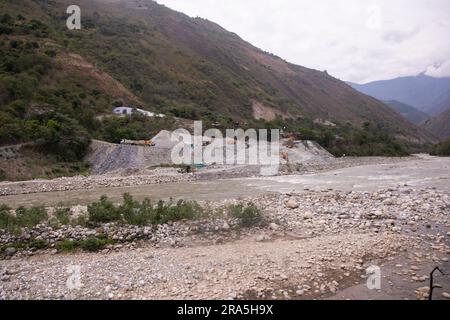
[[449, 0], [157, 1], [342, 80], [450, 76]]

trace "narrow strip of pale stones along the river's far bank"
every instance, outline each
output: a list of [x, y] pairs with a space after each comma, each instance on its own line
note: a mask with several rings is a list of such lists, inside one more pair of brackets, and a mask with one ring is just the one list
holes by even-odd
[[[280, 175], [293, 173], [313, 173], [338, 168], [348, 168], [368, 164], [399, 163], [415, 157], [386, 158], [361, 157], [339, 158], [321, 163], [282, 166]], [[21, 182], [0, 182], [0, 196], [35, 194], [57, 191], [93, 190], [145, 185], [160, 185], [181, 181], [215, 180], [237, 177], [255, 177], [260, 175], [259, 166], [210, 166], [195, 173], [181, 173], [176, 168], [126, 169], [109, 174], [63, 177], [53, 180], [32, 180]], [[1, 201], [1, 198], [0, 198]]]

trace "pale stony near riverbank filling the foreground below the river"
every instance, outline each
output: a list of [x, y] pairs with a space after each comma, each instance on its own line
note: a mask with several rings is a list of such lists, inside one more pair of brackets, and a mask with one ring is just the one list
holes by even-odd
[[[433, 188], [287, 193], [203, 205], [237, 202], [256, 203], [266, 224], [242, 229], [216, 217], [160, 227], [28, 230], [26, 237], [50, 242], [98, 232], [119, 241], [97, 253], [12, 253], [0, 261], [0, 298], [327, 298], [364, 285], [367, 267], [377, 265], [385, 281], [379, 294], [426, 299], [431, 269], [450, 271], [450, 198]], [[80, 270], [75, 289], [67, 285], [73, 266]], [[435, 298], [450, 291], [444, 273]]]

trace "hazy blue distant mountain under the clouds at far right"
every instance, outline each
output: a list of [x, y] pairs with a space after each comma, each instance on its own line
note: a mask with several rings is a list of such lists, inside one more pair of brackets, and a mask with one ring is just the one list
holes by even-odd
[[397, 100], [434, 115], [436, 100], [450, 90], [450, 78], [432, 78], [424, 74], [367, 84], [349, 83], [356, 90], [379, 100]]

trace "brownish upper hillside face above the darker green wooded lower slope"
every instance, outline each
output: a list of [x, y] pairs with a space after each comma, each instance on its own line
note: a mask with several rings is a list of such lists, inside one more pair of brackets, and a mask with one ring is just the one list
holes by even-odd
[[322, 118], [357, 127], [372, 121], [409, 141], [433, 139], [327, 73], [289, 64], [210, 21], [152, 1], [78, 1], [80, 31], [65, 28], [68, 0], [4, 3], [2, 12], [48, 24], [47, 37], [62, 47], [57, 54], [79, 54], [123, 84], [147, 109], [248, 121], [262, 108], [266, 120]]

